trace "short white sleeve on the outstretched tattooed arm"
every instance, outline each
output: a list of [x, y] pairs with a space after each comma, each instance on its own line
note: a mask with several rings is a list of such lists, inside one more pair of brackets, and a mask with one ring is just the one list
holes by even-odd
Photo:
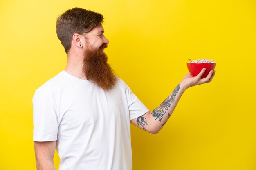
[[135, 94], [133, 94], [130, 87], [123, 80], [121, 81], [124, 84], [126, 99], [129, 107], [130, 120], [138, 118], [139, 116], [147, 113], [149, 111], [148, 108], [137, 98], [137, 96], [135, 96]]

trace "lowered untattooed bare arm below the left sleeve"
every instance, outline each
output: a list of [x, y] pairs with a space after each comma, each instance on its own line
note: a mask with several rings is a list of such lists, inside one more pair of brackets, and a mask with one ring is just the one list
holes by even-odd
[[55, 170], [53, 157], [56, 141], [34, 141], [37, 170]]

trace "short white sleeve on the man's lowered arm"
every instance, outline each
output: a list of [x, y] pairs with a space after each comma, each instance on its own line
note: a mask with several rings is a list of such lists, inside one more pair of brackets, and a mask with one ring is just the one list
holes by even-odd
[[58, 116], [56, 114], [54, 102], [38, 90], [36, 90], [32, 102], [34, 124], [33, 140], [57, 140]]

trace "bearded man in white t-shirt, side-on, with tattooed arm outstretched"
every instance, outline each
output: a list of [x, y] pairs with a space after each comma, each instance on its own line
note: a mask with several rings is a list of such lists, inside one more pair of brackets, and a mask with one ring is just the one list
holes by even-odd
[[103, 16], [73, 8], [57, 19], [57, 36], [67, 67], [36, 89], [33, 97], [34, 148], [38, 170], [132, 170], [130, 122], [158, 133], [183, 92], [210, 82], [214, 73], [186, 74], [156, 109], [149, 111], [128, 85], [115, 76], [104, 48]]

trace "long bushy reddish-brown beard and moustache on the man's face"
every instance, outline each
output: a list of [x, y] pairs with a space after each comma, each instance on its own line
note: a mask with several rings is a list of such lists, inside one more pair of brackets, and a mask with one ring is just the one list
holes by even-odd
[[104, 48], [107, 48], [106, 43], [103, 43], [99, 49], [86, 51], [83, 59], [83, 72], [88, 80], [103, 90], [109, 90], [115, 86], [117, 77], [114, 70], [107, 63], [108, 57], [103, 52]]

